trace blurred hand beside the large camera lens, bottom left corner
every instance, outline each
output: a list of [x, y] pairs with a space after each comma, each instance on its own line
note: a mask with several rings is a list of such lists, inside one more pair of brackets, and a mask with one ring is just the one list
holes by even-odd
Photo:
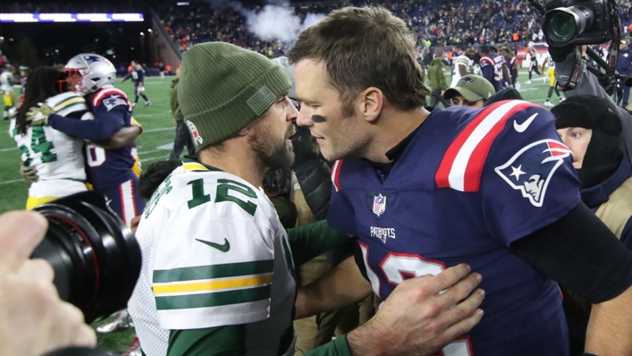
[[35, 212], [0, 216], [0, 355], [41, 355], [66, 346], [95, 346], [80, 309], [59, 299], [53, 268], [29, 259], [46, 233]]

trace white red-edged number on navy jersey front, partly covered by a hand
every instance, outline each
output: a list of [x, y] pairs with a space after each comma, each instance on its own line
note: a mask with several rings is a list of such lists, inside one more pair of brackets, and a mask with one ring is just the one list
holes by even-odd
[[[383, 280], [387, 281], [388, 284], [397, 285], [404, 282], [404, 279], [421, 275], [438, 275], [445, 269], [445, 265], [440, 261], [424, 259], [419, 255], [408, 253], [389, 252], [380, 263], [380, 270], [375, 272], [368, 263], [368, 246], [361, 242], [358, 243], [360, 250], [362, 250], [362, 259], [365, 262], [365, 267], [367, 267], [367, 277], [369, 282], [371, 282], [373, 292], [383, 300], [385, 298], [380, 291], [380, 278], [376, 273], [381, 273]], [[449, 343], [436, 356], [474, 356], [469, 336], [459, 337], [457, 340]]]

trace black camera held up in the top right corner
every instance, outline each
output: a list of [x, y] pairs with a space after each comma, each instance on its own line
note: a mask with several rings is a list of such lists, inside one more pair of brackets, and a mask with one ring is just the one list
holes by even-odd
[[543, 23], [547, 43], [552, 47], [565, 47], [610, 41], [615, 29], [611, 6], [610, 0], [547, 3]]

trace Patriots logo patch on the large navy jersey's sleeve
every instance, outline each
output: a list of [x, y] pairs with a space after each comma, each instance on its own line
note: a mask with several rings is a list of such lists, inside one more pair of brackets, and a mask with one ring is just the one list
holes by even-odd
[[520, 149], [507, 163], [494, 170], [511, 188], [520, 191], [534, 207], [540, 208], [553, 174], [569, 156], [570, 149], [563, 143], [539, 140]]

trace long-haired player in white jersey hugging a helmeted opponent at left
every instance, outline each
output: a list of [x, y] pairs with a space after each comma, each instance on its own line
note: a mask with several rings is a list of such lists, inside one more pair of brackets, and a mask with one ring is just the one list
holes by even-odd
[[[30, 125], [27, 121], [29, 108], [42, 102], [50, 106], [55, 114], [65, 117], [77, 120], [94, 117], [86, 100], [75, 92], [66, 91], [62, 80], [63, 74], [52, 67], [42, 66], [30, 72], [24, 103], [9, 130], [21, 151], [21, 173], [28, 170], [26, 175], [33, 181], [29, 187], [27, 209], [87, 190], [82, 154], [85, 141], [50, 126]], [[138, 134], [138, 127], [124, 128], [112, 139], [98, 144], [117, 148], [125, 141], [134, 140]]]

